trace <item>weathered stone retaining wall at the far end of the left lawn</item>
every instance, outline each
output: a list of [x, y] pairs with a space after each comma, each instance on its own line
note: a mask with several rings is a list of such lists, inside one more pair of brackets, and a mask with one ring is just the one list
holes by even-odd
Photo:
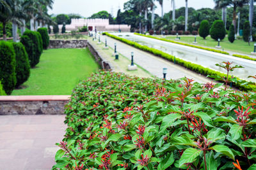
[[48, 48], [86, 48], [87, 40], [60, 40], [50, 39]]

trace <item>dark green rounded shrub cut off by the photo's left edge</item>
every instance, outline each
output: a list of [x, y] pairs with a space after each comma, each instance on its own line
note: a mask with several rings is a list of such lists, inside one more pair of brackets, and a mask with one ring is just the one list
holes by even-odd
[[10, 95], [16, 85], [15, 52], [13, 45], [7, 41], [0, 41], [0, 81], [3, 89]]

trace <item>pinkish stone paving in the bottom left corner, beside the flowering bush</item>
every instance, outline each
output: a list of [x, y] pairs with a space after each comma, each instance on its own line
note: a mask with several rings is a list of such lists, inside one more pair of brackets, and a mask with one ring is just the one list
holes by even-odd
[[0, 170], [43, 170], [54, 165], [65, 115], [0, 116]]

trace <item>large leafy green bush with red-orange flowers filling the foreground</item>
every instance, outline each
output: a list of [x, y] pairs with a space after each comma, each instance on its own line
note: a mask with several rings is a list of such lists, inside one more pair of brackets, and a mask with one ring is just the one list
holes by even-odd
[[255, 169], [256, 95], [220, 85], [93, 74], [66, 106], [52, 169]]

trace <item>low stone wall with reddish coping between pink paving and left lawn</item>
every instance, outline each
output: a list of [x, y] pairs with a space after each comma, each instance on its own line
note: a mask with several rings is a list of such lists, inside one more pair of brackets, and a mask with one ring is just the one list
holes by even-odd
[[70, 96], [0, 96], [0, 115], [63, 115]]

